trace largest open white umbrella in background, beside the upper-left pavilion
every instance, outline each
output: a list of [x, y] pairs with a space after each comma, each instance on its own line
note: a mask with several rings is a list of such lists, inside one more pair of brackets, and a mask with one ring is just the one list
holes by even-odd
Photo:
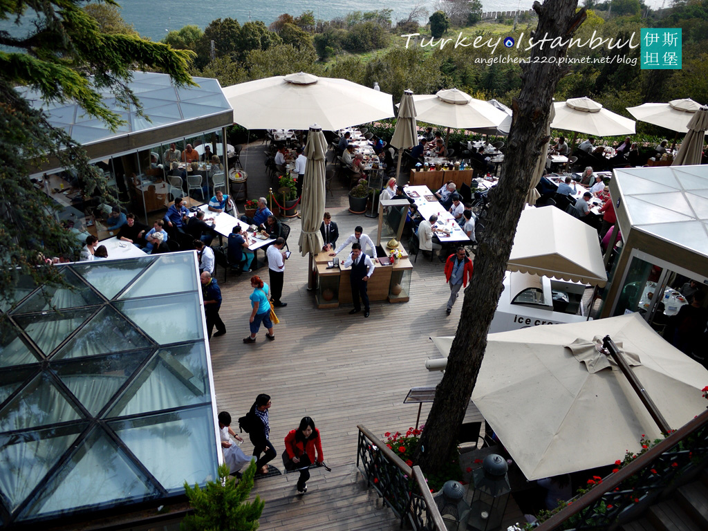
[[305, 130], [313, 122], [325, 131], [391, 118], [391, 94], [346, 79], [289, 74], [223, 89], [234, 122], [246, 129]]

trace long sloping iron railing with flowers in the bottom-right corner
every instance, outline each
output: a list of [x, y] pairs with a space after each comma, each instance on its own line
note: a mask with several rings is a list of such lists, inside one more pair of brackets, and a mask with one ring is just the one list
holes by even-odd
[[[689, 481], [708, 462], [708, 411], [545, 520], [537, 531], [613, 530]], [[685, 480], [685, 481], [682, 481]]]

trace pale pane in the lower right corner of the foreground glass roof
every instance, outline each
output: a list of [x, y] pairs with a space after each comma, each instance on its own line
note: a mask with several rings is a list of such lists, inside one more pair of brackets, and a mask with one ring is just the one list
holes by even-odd
[[[217, 477], [211, 406], [113, 421], [109, 426], [168, 491]], [[213, 439], [213, 438], [212, 438]], [[156, 444], [156, 441], [159, 441]], [[178, 464], [178, 466], [176, 466]]]

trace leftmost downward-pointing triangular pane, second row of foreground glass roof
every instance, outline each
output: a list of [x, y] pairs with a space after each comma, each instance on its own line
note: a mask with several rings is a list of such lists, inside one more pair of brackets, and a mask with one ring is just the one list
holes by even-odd
[[49, 355], [59, 343], [69, 337], [74, 330], [86, 321], [97, 307], [63, 310], [61, 314], [43, 312], [42, 314], [18, 315], [15, 321], [27, 332], [32, 341]]

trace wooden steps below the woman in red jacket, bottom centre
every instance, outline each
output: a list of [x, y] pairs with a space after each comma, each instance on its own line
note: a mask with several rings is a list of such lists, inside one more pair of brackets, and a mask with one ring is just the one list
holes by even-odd
[[259, 530], [399, 530], [393, 511], [368, 489], [354, 463], [310, 469], [307, 493], [295, 489], [297, 472], [256, 479], [251, 496], [265, 501]]

